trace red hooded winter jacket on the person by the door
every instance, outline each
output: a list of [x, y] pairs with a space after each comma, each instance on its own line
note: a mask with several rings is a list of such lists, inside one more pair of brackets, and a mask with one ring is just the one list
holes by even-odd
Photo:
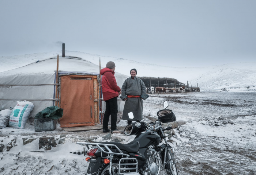
[[121, 91], [117, 86], [116, 78], [114, 77], [115, 72], [107, 67], [101, 69], [101, 87], [103, 93], [103, 100], [109, 100], [114, 97], [118, 97], [118, 92]]

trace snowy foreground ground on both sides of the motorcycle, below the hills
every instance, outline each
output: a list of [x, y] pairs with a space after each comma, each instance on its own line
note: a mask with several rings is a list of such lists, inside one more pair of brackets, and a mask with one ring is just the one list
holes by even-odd
[[[144, 101], [143, 116], [147, 122], [156, 120], [162, 102], [168, 100], [168, 109], [173, 110], [176, 121], [182, 125], [179, 130], [174, 129], [176, 135], [172, 139], [168, 137], [175, 148], [180, 175], [252, 175], [256, 172], [255, 99], [255, 92], [150, 94]], [[208, 121], [218, 117], [227, 118], [233, 124], [208, 125]], [[121, 120], [118, 129], [124, 129], [125, 124]], [[116, 133], [104, 140], [106, 135], [102, 130], [65, 132], [59, 127], [55, 131], [34, 132], [29, 124], [25, 129], [1, 129], [0, 144], [5, 148], [0, 152], [0, 171], [2, 174], [84, 174], [88, 163], [83, 155], [74, 154], [83, 151], [76, 141], [128, 143], [134, 138]], [[49, 151], [39, 149], [39, 137], [45, 136], [54, 137], [57, 147]], [[15, 137], [17, 146], [7, 151], [6, 145]], [[23, 145], [25, 138], [35, 140]]]

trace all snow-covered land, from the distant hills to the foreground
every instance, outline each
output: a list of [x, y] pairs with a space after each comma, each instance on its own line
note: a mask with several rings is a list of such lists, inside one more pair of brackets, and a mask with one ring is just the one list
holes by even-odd
[[[36, 53], [0, 57], [0, 72], [15, 69], [31, 62], [61, 54]], [[179, 175], [248, 174], [256, 172], [256, 62], [208, 67], [179, 68], [174, 65], [138, 63], [123, 58], [105, 57], [83, 52], [66, 51], [66, 55], [82, 57], [98, 64], [114, 61], [116, 71], [129, 75], [136, 68], [138, 76], [171, 77], [200, 86], [200, 93], [150, 94], [144, 101], [143, 116], [147, 122], [157, 119], [162, 102], [169, 101], [169, 109], [176, 114], [179, 129], [168, 140], [175, 148]], [[14, 106], [12, 106], [14, 107]], [[121, 120], [118, 129], [126, 122]], [[57, 147], [39, 149], [42, 137], [53, 137]], [[134, 136], [120, 133], [106, 134], [102, 130], [66, 132], [59, 126], [55, 131], [34, 132], [25, 129], [0, 129], [0, 174], [85, 174], [88, 163], [83, 147], [76, 141], [118, 141], [128, 143]], [[15, 140], [16, 139], [16, 143]], [[28, 143], [30, 140], [31, 143]], [[13, 147], [7, 151], [10, 143]], [[161, 171], [161, 174], [165, 174]]]

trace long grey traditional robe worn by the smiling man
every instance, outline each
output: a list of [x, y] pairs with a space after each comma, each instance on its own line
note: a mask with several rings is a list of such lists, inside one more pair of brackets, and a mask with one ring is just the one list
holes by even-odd
[[[140, 96], [135, 98], [127, 98], [127, 96]], [[122, 95], [121, 99], [124, 100], [127, 98], [124, 104], [124, 112], [123, 112], [123, 120], [133, 120], [136, 121], [142, 120], [142, 110], [143, 110], [143, 100], [146, 100], [148, 98], [148, 94], [146, 94], [146, 86], [144, 82], [140, 78], [134, 77], [134, 79], [127, 78], [122, 86]], [[134, 118], [136, 119], [130, 119], [128, 117], [128, 113], [132, 112]]]

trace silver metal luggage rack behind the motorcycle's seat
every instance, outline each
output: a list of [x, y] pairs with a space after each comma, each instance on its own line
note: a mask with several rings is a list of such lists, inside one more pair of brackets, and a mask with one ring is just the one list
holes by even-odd
[[[96, 146], [99, 148], [99, 150], [101, 150], [101, 152], [104, 152], [104, 153], [108, 154], [109, 156], [114, 155], [114, 154], [121, 155], [121, 156], [127, 156], [127, 154], [124, 154], [116, 145], [113, 145], [113, 144], [89, 143], [89, 142], [76, 142], [76, 144], [79, 144], [81, 146], [86, 145], [87, 149], [90, 149], [88, 145]], [[114, 149], [116, 149], [118, 152], [112, 152], [109, 147], [111, 147], [111, 148], [114, 147]]]

